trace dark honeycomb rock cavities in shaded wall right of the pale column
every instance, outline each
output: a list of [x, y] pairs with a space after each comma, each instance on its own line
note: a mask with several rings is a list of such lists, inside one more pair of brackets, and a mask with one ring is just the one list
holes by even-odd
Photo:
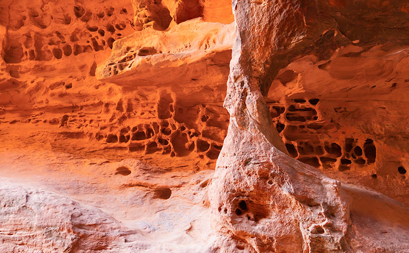
[[353, 164], [361, 167], [374, 164], [376, 145], [372, 139], [322, 138], [322, 134], [336, 129], [337, 124], [322, 118], [318, 103], [317, 98], [287, 99], [285, 105], [268, 103], [289, 155], [316, 168], [338, 168], [339, 171], [350, 170]]

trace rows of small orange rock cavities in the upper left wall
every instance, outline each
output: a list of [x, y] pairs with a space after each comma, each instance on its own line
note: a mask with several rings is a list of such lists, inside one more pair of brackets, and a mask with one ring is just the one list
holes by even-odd
[[[108, 47], [112, 48], [112, 43], [123, 36], [122, 30], [127, 26], [128, 28], [133, 26], [130, 22], [132, 13], [128, 13], [126, 8], [115, 9], [110, 6], [96, 10], [86, 9], [80, 5], [71, 8], [54, 15], [39, 8], [27, 8], [20, 13], [21, 18], [11, 19], [8, 27], [10, 35], [23, 34], [23, 40], [8, 41], [4, 61], [6, 63], [19, 63], [25, 60], [49, 61], [84, 52], [105, 50]], [[40, 29], [32, 29], [31, 26]], [[58, 30], [54, 30], [55, 27], [58, 27]], [[95, 72], [95, 68], [96, 65], [91, 72]]]

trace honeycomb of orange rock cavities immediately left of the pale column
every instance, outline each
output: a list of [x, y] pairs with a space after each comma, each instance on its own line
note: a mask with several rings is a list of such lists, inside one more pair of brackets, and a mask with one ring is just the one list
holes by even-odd
[[[110, 121], [95, 134], [98, 141], [127, 147], [130, 152], [217, 159], [228, 125], [227, 113], [220, 106], [199, 104], [183, 107], [175, 102], [174, 93], [162, 93], [158, 101], [134, 110], [133, 102], [122, 99], [103, 105], [104, 112], [114, 111]], [[138, 119], [138, 124], [135, 120]], [[132, 123], [133, 122], [133, 123]]]

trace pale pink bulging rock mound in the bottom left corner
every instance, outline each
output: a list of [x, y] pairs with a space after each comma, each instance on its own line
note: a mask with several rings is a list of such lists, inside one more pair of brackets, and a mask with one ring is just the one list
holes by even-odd
[[53, 193], [3, 182], [2, 252], [74, 252], [114, 250], [119, 223], [96, 208]]

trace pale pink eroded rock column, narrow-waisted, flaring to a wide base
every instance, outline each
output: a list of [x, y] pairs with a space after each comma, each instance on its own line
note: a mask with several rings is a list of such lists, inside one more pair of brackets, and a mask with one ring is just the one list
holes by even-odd
[[237, 34], [224, 101], [230, 125], [209, 187], [222, 252], [347, 248], [348, 197], [339, 182], [283, 153], [263, 97], [278, 69], [309, 43], [302, 5], [233, 1]]

